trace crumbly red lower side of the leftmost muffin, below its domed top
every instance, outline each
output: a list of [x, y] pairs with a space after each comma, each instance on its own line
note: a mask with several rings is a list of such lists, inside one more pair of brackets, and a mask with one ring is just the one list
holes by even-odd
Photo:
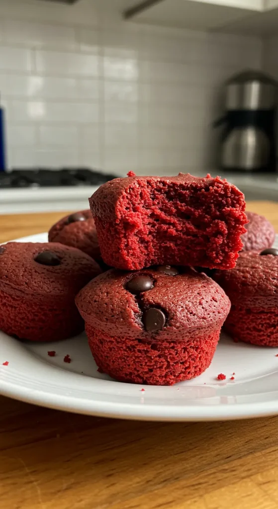
[[64, 303], [33, 300], [0, 291], [0, 330], [23, 340], [58, 341], [84, 330], [84, 321], [71, 299]]

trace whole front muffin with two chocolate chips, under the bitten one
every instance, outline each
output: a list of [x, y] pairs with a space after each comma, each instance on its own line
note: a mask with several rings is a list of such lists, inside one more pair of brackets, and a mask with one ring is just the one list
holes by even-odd
[[224, 291], [194, 269], [109, 270], [76, 297], [99, 368], [122, 382], [173, 385], [210, 365], [230, 310]]

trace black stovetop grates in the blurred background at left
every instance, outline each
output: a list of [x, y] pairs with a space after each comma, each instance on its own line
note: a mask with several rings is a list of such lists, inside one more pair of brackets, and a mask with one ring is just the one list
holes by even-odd
[[0, 172], [0, 189], [22, 187], [99, 186], [117, 178], [90, 168], [13, 168]]

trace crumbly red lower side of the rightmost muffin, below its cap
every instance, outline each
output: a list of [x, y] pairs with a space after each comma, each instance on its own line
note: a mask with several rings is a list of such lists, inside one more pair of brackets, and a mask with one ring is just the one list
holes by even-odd
[[277, 307], [245, 308], [232, 305], [224, 328], [233, 338], [244, 343], [278, 347]]

